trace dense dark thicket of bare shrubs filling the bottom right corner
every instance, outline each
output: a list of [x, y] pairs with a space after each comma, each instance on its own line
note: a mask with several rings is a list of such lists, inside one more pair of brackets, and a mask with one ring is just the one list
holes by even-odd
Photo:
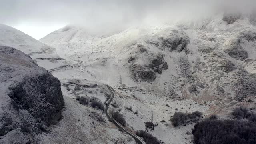
[[195, 144], [256, 144], [256, 124], [244, 120], [211, 120], [197, 123]]

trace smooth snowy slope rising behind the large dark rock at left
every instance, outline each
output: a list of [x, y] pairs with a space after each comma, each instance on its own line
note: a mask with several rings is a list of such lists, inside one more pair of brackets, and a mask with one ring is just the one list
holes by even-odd
[[50, 48], [31, 36], [4, 24], [0, 24], [0, 46], [14, 47], [25, 54], [42, 52]]

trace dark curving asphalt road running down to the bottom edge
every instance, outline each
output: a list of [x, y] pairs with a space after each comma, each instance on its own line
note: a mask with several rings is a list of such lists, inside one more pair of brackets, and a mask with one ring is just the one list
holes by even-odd
[[108, 104], [105, 108], [105, 113], [106, 113], [106, 116], [108, 117], [109, 120], [112, 120], [112, 122], [118, 127], [118, 128], [121, 128], [124, 132], [126, 132], [126, 134], [129, 134], [130, 136], [132, 136], [132, 138], [134, 138], [134, 140], [138, 143], [138, 144], [146, 144], [142, 139], [140, 139], [139, 136], [135, 135], [135, 134], [132, 134], [131, 132], [129, 132], [128, 130], [126, 130], [119, 122], [117, 122], [116, 120], [114, 120], [114, 118], [112, 118], [109, 113], [108, 113], [108, 108], [112, 102], [112, 100], [114, 99], [115, 97], [115, 93], [113, 92], [113, 88], [110, 87], [109, 85], [106, 84], [106, 87], [108, 88], [109, 92], [110, 92], [110, 96], [111, 98], [109, 99], [108, 101]]

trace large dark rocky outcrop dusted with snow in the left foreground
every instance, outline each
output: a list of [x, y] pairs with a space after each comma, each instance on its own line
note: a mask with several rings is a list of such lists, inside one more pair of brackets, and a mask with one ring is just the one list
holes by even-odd
[[26, 54], [0, 47], [0, 143], [38, 143], [61, 118], [60, 81]]

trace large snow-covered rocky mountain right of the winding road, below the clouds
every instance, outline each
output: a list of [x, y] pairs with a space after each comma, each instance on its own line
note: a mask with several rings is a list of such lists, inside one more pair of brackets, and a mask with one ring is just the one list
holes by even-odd
[[[109, 36], [66, 26], [40, 41], [65, 58], [84, 61], [54, 76], [113, 86], [118, 106], [111, 108], [130, 128], [145, 130], [153, 110], [159, 125], [150, 133], [183, 144], [191, 141], [186, 132], [193, 125], [172, 128], [169, 120], [177, 110], [224, 117], [236, 106], [253, 107], [248, 100], [256, 100], [255, 21], [234, 14], [192, 24], [134, 26]], [[139, 116], [126, 109], [130, 106]]]

